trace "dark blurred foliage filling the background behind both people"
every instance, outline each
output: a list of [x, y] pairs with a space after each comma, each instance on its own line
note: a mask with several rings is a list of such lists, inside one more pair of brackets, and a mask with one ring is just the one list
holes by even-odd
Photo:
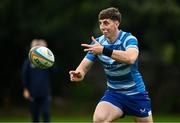
[[[25, 107], [22, 98], [21, 65], [30, 41], [44, 38], [54, 52], [60, 71], [52, 76], [55, 107], [92, 112], [105, 89], [99, 63], [82, 83], [69, 81], [85, 53], [81, 43], [100, 35], [98, 13], [114, 6], [122, 13], [120, 28], [139, 40], [140, 71], [152, 98], [154, 112], [180, 112], [180, 2], [178, 0], [1, 0], [0, 110]], [[89, 104], [93, 104], [89, 106]], [[64, 110], [63, 110], [64, 108]], [[7, 110], [8, 109], [8, 110]], [[69, 112], [71, 112], [69, 110]]]

